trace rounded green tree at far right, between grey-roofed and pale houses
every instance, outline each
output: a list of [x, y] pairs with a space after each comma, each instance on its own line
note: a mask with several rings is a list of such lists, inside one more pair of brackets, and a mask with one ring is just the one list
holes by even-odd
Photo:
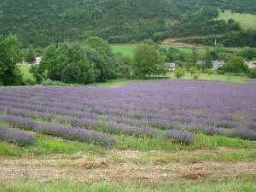
[[247, 73], [248, 67], [241, 56], [232, 55], [224, 65], [224, 71], [230, 73]]

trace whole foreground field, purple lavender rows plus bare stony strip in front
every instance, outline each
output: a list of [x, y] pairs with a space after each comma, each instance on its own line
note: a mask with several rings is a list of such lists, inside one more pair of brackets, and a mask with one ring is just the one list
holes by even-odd
[[0, 190], [252, 191], [255, 95], [255, 81], [3, 88]]

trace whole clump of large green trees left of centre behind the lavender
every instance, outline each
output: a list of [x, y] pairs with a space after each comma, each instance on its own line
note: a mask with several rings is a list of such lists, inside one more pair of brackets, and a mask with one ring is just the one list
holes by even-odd
[[116, 77], [117, 62], [108, 43], [88, 38], [82, 43], [51, 44], [40, 65], [31, 72], [37, 83], [43, 79], [67, 84], [92, 84]]

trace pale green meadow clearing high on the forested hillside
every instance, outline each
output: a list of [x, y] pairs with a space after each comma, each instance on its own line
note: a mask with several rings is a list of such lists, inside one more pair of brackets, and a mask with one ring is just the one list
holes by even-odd
[[231, 13], [230, 9], [226, 9], [224, 13], [219, 11], [218, 19], [220, 20], [229, 20], [234, 19], [241, 23], [241, 27], [244, 29], [252, 28], [256, 29], [256, 15], [250, 14], [239, 14], [239, 13]]

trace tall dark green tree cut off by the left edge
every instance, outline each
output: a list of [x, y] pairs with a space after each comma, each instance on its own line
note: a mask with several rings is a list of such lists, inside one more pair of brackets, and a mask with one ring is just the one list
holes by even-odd
[[23, 52], [18, 38], [14, 35], [7, 38], [0, 36], [0, 84], [22, 84], [22, 73], [16, 65], [22, 58]]

